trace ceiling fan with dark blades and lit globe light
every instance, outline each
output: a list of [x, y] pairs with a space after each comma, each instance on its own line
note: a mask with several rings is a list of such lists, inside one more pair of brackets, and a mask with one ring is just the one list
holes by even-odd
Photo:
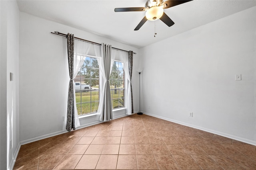
[[160, 19], [168, 27], [174, 24], [165, 13], [164, 9], [170, 8], [172, 6], [180, 5], [191, 0], [147, 0], [145, 7], [134, 7], [134, 8], [115, 8], [115, 12], [131, 12], [131, 11], [146, 11], [146, 15], [134, 29], [134, 31], [139, 30], [140, 27], [147, 21], [154, 21]]

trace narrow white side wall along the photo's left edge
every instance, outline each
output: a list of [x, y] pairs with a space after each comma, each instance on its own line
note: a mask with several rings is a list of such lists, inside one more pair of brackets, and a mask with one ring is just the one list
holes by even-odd
[[[19, 10], [16, 1], [1, 1], [1, 165], [12, 169], [19, 139]], [[13, 81], [10, 81], [10, 72]]]

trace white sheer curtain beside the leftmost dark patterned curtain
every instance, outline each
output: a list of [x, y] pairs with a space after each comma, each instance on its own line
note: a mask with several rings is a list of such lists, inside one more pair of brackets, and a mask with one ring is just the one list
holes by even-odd
[[91, 43], [86, 43], [84, 41], [80, 41], [78, 39], [74, 39], [74, 72], [73, 72], [73, 94], [74, 94], [74, 109], [75, 109], [75, 126], [80, 126], [77, 108], [76, 108], [76, 93], [75, 93], [75, 83], [74, 78], [78, 74], [82, 64], [84, 63], [84, 59], [88, 55]]

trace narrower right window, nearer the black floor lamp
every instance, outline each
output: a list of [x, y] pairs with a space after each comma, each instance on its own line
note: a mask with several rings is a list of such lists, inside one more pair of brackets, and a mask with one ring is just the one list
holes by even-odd
[[114, 61], [109, 83], [112, 108], [124, 107], [124, 68], [122, 62]]

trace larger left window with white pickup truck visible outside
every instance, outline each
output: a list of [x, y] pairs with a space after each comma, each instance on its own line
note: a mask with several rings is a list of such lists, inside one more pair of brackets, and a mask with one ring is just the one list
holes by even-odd
[[96, 58], [85, 58], [74, 82], [78, 115], [96, 113], [99, 106], [99, 65]]

